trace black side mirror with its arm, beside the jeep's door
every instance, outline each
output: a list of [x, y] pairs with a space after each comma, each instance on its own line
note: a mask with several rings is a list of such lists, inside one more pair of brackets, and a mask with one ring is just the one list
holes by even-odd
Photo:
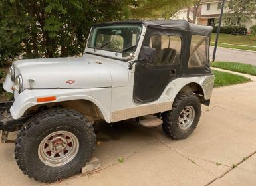
[[132, 66], [136, 62], [145, 61], [145, 62], [153, 63], [155, 58], [156, 58], [156, 48], [143, 46], [142, 50], [140, 51], [140, 59], [134, 60], [134, 62], [130, 63], [129, 70], [132, 70]]

